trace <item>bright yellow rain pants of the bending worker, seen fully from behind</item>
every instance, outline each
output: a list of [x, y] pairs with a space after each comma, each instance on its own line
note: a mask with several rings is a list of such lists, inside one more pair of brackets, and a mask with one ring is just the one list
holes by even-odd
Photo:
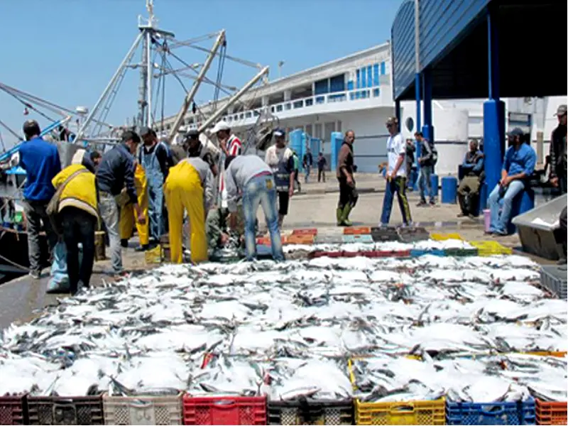
[[182, 263], [183, 212], [187, 210], [191, 228], [191, 260], [207, 261], [205, 239], [205, 212], [200, 175], [187, 161], [170, 168], [164, 184], [165, 205], [170, 225], [170, 251], [172, 263]]

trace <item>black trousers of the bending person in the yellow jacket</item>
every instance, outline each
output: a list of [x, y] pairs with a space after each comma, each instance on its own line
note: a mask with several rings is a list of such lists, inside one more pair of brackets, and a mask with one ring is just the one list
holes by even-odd
[[[94, 263], [94, 231], [97, 218], [76, 207], [64, 207], [60, 212], [63, 226], [63, 241], [67, 249], [67, 275], [71, 293], [77, 293], [81, 281], [89, 287]], [[79, 264], [79, 248], [83, 247], [83, 258]]]

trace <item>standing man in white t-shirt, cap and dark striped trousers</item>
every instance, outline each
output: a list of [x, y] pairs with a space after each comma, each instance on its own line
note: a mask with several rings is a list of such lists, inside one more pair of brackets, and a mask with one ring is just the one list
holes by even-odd
[[398, 197], [400, 214], [403, 217], [403, 224], [409, 225], [412, 222], [410, 217], [410, 204], [406, 197], [406, 143], [403, 136], [398, 132], [398, 120], [391, 117], [386, 121], [386, 129], [390, 136], [386, 141], [386, 151], [388, 166], [386, 170], [386, 190], [383, 199], [383, 214], [381, 214], [381, 226], [387, 226], [391, 219], [393, 209], [393, 199], [395, 193]]

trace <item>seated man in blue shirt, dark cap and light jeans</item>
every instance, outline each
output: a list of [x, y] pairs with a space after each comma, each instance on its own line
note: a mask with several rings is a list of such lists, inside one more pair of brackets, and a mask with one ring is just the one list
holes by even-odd
[[[489, 234], [507, 235], [507, 225], [513, 207], [513, 199], [528, 185], [528, 178], [535, 170], [537, 155], [527, 143], [523, 143], [523, 131], [515, 128], [509, 133], [510, 146], [505, 153], [501, 181], [489, 195], [491, 226]], [[503, 208], [499, 214], [499, 201], [503, 199]]]

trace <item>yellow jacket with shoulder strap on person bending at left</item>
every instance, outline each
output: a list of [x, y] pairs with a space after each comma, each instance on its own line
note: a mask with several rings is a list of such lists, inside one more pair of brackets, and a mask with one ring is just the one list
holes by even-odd
[[[84, 165], [80, 164], [72, 164], [64, 168], [51, 181], [53, 187], [57, 189], [70, 175], [81, 169], [87, 170]], [[97, 187], [94, 184], [94, 174], [80, 173], [72, 178], [63, 188], [59, 200], [58, 212], [61, 212], [64, 207], [77, 207], [98, 218]]]

